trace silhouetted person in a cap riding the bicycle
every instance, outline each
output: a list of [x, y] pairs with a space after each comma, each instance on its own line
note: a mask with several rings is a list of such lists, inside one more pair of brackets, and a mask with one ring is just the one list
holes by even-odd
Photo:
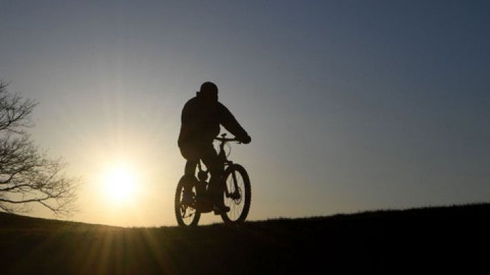
[[[223, 202], [224, 182], [220, 179], [221, 164], [213, 147], [213, 140], [220, 133], [220, 125], [244, 144], [250, 143], [251, 137], [231, 112], [218, 101], [217, 92], [214, 83], [202, 83], [196, 96], [184, 104], [178, 146], [182, 157], [187, 159], [184, 175], [189, 177], [189, 180], [195, 180], [195, 167], [199, 159], [202, 159], [211, 172], [209, 194], [214, 203], [215, 214], [220, 214], [228, 212], [230, 208]], [[184, 196], [186, 192], [191, 191], [184, 189]]]

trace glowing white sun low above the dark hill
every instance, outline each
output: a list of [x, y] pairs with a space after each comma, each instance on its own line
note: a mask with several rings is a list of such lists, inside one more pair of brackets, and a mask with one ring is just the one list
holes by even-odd
[[136, 177], [127, 167], [111, 168], [105, 175], [105, 191], [113, 202], [130, 200], [135, 195], [136, 187]]

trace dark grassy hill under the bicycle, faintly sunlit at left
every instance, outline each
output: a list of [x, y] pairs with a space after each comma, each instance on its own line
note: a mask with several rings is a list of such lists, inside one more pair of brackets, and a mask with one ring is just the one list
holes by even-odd
[[478, 203], [184, 230], [0, 213], [0, 274], [485, 274], [489, 217]]

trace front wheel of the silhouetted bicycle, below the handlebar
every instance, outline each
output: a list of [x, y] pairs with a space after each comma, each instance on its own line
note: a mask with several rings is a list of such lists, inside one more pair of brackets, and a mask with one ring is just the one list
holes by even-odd
[[221, 214], [225, 223], [242, 223], [250, 210], [252, 190], [245, 168], [239, 164], [228, 166], [224, 171], [224, 204], [229, 212]]

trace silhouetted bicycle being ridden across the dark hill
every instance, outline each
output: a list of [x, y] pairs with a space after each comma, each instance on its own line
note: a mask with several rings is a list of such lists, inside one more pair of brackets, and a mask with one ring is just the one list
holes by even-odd
[[[217, 154], [220, 167], [220, 178], [225, 184], [222, 185], [224, 205], [230, 211], [221, 213], [224, 223], [242, 223], [245, 221], [251, 205], [251, 184], [245, 168], [228, 160], [224, 151], [228, 142], [238, 142], [235, 138], [226, 138], [226, 133], [221, 137], [215, 137], [220, 142], [220, 151]], [[209, 182], [208, 170], [203, 170], [201, 159], [198, 161], [198, 177], [189, 178], [182, 176], [175, 190], [175, 218], [178, 225], [192, 227], [199, 223], [202, 213], [213, 211], [213, 201], [208, 192]], [[187, 190], [187, 191], [186, 191]], [[189, 192], [184, 195], [184, 192]]]

